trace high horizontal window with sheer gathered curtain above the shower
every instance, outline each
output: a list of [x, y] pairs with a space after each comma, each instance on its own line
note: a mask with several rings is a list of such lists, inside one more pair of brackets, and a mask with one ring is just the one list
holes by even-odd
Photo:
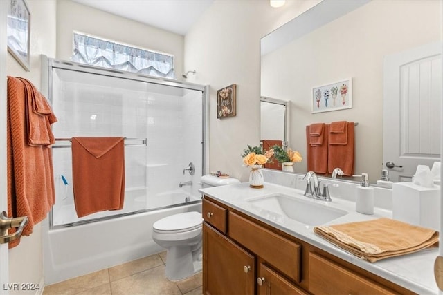
[[175, 79], [174, 56], [74, 32], [72, 61]]

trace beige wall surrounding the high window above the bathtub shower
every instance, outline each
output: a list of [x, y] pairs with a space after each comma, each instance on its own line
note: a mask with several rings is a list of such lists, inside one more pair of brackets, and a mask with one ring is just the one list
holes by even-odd
[[174, 55], [175, 74], [183, 73], [183, 36], [118, 17], [73, 1], [57, 1], [57, 59], [73, 54], [73, 31]]

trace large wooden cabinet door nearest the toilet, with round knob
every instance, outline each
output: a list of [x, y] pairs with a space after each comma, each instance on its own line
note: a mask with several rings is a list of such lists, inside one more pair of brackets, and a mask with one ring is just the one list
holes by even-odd
[[252, 295], [254, 287], [255, 257], [204, 222], [204, 294]]

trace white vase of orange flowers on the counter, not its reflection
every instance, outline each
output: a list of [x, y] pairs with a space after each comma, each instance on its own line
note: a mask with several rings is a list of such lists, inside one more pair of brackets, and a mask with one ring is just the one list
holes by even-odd
[[261, 189], [264, 185], [262, 165], [269, 162], [273, 156], [273, 149], [264, 152], [261, 146], [249, 146], [244, 149], [242, 157], [243, 163], [251, 167], [249, 173], [249, 187]]

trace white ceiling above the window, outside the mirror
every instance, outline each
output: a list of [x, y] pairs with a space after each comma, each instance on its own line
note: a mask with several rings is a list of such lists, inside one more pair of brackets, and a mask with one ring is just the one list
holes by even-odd
[[73, 0], [149, 26], [186, 35], [213, 0]]

